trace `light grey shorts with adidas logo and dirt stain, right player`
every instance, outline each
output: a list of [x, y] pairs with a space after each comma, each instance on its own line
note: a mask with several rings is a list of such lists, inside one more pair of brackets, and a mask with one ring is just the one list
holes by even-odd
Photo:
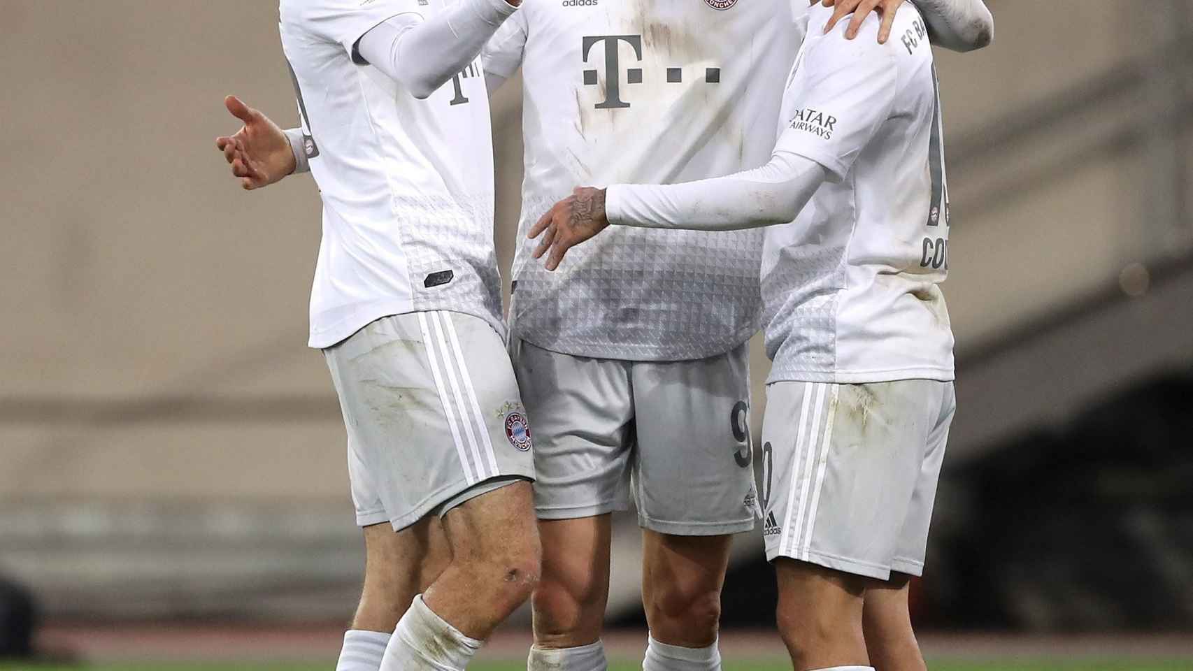
[[767, 559], [883, 580], [922, 574], [953, 384], [779, 381], [766, 393]]

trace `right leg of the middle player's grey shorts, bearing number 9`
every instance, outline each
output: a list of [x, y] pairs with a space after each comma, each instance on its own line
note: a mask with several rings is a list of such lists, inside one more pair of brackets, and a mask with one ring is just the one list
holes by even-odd
[[696, 361], [635, 364], [632, 385], [639, 524], [685, 536], [753, 529], [749, 346]]

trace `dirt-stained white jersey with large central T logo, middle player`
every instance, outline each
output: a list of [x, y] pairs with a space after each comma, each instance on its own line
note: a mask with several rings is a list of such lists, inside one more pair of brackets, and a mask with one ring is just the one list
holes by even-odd
[[[795, 8], [793, 8], [795, 7]], [[771, 156], [803, 38], [791, 0], [534, 0], [482, 52], [523, 68], [526, 176], [511, 328], [544, 349], [622, 360], [723, 354], [759, 328], [764, 232], [616, 226], [549, 273], [530, 225], [577, 186], [670, 184]]]

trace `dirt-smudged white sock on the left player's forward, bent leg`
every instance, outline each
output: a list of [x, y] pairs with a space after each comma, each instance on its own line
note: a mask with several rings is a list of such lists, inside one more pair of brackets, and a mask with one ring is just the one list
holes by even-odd
[[419, 595], [398, 620], [381, 671], [464, 671], [482, 645], [435, 615]]

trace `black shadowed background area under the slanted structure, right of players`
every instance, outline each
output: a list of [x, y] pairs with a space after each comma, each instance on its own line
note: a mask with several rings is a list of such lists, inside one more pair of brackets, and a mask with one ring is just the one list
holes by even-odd
[[[928, 555], [913, 592], [923, 628], [1193, 630], [1193, 374], [1121, 392], [964, 467], [946, 459]], [[775, 602], [771, 566], [740, 565], [723, 626], [773, 627]]]

